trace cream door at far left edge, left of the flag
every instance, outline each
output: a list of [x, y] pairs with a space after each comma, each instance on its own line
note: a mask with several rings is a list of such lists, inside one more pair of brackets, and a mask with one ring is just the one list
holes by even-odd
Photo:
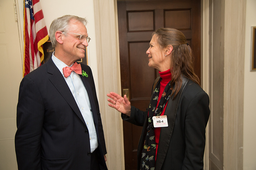
[[0, 1], [0, 169], [16, 170], [16, 106], [22, 80], [22, 55], [14, 0]]

